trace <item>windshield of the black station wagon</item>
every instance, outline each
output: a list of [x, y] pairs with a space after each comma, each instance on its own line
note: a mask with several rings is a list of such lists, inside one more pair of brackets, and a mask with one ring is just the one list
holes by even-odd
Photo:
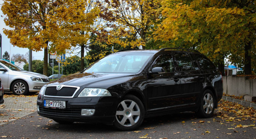
[[138, 73], [151, 53], [115, 53], [87, 68], [87, 73]]

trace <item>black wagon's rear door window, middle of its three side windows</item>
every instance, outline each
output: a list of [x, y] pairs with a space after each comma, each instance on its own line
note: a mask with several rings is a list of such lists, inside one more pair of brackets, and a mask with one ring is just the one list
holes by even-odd
[[180, 71], [194, 71], [193, 61], [188, 53], [175, 52], [174, 57], [178, 63]]

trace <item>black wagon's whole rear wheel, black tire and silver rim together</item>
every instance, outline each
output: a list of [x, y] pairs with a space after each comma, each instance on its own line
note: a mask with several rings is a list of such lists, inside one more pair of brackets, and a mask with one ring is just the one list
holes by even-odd
[[209, 118], [214, 113], [215, 98], [211, 90], [205, 90], [200, 99], [199, 110], [195, 113], [198, 117]]

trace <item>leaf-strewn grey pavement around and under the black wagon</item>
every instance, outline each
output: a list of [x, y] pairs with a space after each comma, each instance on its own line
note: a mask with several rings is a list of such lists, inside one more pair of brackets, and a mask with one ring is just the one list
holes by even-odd
[[[0, 106], [0, 114], [4, 114], [0, 116], [0, 138], [5, 139], [256, 139], [255, 120], [223, 120], [225, 110], [221, 109], [207, 119], [184, 112], [145, 119], [136, 131], [117, 131], [112, 125], [62, 125], [41, 117], [36, 112], [36, 97], [4, 99]], [[226, 117], [234, 117], [227, 114]], [[251, 126], [236, 128], [239, 124]]]

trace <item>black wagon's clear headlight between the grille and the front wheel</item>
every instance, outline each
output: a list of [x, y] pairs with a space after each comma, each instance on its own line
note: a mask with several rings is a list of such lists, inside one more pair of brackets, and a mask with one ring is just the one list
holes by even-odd
[[78, 97], [111, 96], [109, 91], [101, 88], [85, 88]]

